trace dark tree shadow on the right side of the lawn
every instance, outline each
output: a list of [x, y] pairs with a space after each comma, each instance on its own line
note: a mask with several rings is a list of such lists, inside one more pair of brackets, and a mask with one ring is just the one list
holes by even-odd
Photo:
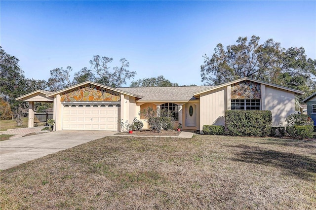
[[316, 160], [287, 152], [279, 152], [274, 150], [265, 150], [260, 147], [252, 147], [243, 144], [236, 146], [244, 151], [235, 153], [236, 158], [233, 161], [244, 163], [254, 163], [264, 166], [271, 166], [283, 169], [286, 175], [294, 175], [300, 179], [315, 179], [316, 176]]

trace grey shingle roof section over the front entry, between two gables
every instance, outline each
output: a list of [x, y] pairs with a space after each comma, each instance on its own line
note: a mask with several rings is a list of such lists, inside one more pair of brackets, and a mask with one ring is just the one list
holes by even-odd
[[194, 100], [193, 93], [208, 89], [211, 86], [185, 87], [120, 87], [118, 90], [144, 96], [138, 102], [147, 101], [189, 101]]

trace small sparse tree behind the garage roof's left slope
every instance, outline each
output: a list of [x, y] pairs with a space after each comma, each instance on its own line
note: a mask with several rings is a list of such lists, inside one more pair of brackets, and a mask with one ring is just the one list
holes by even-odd
[[73, 82], [70, 81], [70, 73], [72, 70], [70, 66], [65, 70], [63, 68], [50, 70], [50, 77], [47, 83], [50, 91], [57, 91], [72, 86]]

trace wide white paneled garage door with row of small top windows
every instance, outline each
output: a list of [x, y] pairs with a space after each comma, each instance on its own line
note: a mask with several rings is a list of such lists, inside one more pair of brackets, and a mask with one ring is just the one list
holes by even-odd
[[64, 105], [63, 130], [118, 131], [118, 105]]

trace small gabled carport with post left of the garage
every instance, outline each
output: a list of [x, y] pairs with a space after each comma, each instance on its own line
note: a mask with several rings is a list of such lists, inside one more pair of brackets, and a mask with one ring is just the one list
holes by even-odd
[[16, 101], [23, 101], [23, 102], [29, 103], [29, 121], [28, 121], [29, 128], [34, 127], [34, 103], [35, 102], [54, 103], [54, 98], [46, 97], [46, 95], [50, 93], [52, 92], [45, 91], [45, 90], [37, 90], [15, 99]]

